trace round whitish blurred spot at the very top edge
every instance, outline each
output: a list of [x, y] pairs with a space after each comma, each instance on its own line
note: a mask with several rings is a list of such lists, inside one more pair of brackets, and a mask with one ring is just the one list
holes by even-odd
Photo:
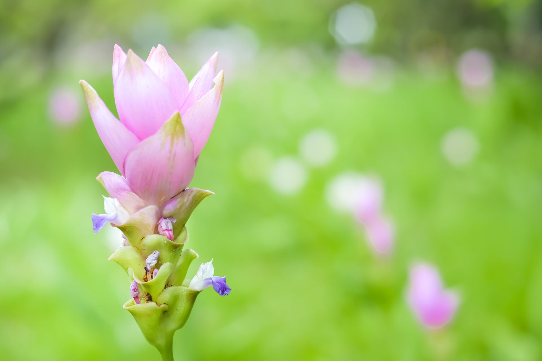
[[343, 45], [369, 42], [375, 34], [377, 24], [371, 8], [351, 3], [333, 12], [329, 31]]

